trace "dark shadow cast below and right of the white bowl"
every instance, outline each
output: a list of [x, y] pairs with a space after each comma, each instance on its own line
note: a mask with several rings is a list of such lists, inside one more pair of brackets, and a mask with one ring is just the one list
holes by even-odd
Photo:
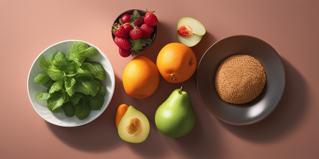
[[[115, 94], [121, 91], [122, 81], [115, 76]], [[114, 97], [113, 95], [113, 97]], [[112, 98], [113, 99], [113, 98]], [[64, 143], [85, 151], [105, 151], [119, 146], [122, 139], [115, 127], [117, 100], [111, 100], [106, 110], [94, 121], [78, 127], [60, 127], [48, 123], [52, 132]]]

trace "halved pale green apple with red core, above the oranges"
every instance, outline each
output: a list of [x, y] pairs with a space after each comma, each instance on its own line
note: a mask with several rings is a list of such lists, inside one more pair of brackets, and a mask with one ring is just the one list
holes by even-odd
[[204, 24], [193, 17], [182, 17], [176, 24], [177, 40], [188, 47], [198, 44], [205, 33]]

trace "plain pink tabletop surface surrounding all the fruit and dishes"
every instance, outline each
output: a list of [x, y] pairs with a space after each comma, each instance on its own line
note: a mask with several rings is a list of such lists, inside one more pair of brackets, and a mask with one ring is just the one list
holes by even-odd
[[[195, 74], [173, 84], [163, 78], [150, 97], [129, 97], [122, 73], [132, 57], [122, 58], [110, 27], [122, 11], [155, 10], [159, 19], [154, 43], [139, 55], [156, 62], [159, 50], [178, 42], [175, 25], [195, 17], [207, 29], [192, 47], [198, 62], [216, 41], [245, 34], [270, 44], [286, 68], [285, 94], [272, 114], [247, 126], [219, 121], [201, 103]], [[0, 1], [0, 158], [319, 158], [319, 1]], [[59, 41], [78, 39], [100, 48], [115, 72], [115, 92], [106, 111], [79, 127], [43, 120], [27, 94], [34, 59]], [[157, 107], [184, 85], [196, 114], [189, 135], [170, 138], [154, 123]], [[141, 110], [151, 124], [145, 142], [119, 138], [118, 105]]]

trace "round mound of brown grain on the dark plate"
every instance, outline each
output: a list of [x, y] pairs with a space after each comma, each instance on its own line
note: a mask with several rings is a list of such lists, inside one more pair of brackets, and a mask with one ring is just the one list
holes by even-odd
[[220, 63], [214, 83], [222, 100], [232, 104], [244, 104], [254, 100], [262, 92], [266, 73], [254, 57], [235, 54]]

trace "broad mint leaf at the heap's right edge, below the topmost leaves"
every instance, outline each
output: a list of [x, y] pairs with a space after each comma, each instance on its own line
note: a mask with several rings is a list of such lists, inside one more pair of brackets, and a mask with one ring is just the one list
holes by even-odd
[[89, 71], [95, 79], [104, 80], [106, 78], [106, 72], [99, 62], [85, 62], [80, 68]]

